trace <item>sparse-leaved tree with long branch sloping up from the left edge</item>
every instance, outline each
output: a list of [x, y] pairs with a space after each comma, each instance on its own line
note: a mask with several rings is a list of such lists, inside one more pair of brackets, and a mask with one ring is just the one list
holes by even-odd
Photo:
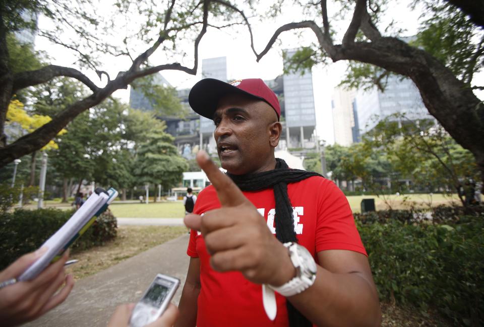
[[[198, 45], [207, 27], [221, 21], [233, 21], [232, 6], [222, 0], [171, 0], [158, 4], [149, 0], [120, 0], [109, 9], [99, 10], [101, 3], [91, 0], [7, 0], [0, 4], [0, 167], [25, 154], [40, 149], [82, 112], [100, 104], [114, 91], [126, 89], [137, 78], [162, 70], [179, 70], [196, 74]], [[35, 15], [51, 21], [49, 28], [35, 30]], [[30, 19], [29, 19], [30, 17]], [[134, 19], [135, 17], [136, 19]], [[77, 55], [71, 67], [43, 64], [18, 71], [13, 61], [15, 51], [7, 46], [13, 32], [29, 29], [57, 46]], [[123, 41], [114, 37], [126, 31]], [[179, 40], [192, 44], [180, 46]], [[111, 42], [112, 41], [112, 42]], [[151, 58], [156, 52], [158, 61]], [[192, 53], [192, 59], [185, 59]], [[129, 60], [117, 74], [101, 67], [101, 57]], [[159, 62], [161, 59], [161, 62]], [[163, 62], [164, 61], [164, 62]], [[189, 65], [183, 62], [189, 61]], [[22, 66], [20, 66], [22, 67]], [[80, 69], [94, 71], [102, 86], [94, 83]], [[52, 120], [35, 131], [8, 144], [4, 127], [8, 105], [13, 97], [29, 87], [49, 83], [57, 77], [78, 80], [89, 91], [81, 99], [59, 108]]]

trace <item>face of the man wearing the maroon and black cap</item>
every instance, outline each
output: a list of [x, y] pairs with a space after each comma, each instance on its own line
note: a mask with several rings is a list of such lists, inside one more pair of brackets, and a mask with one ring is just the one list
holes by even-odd
[[281, 125], [267, 103], [243, 95], [222, 98], [213, 133], [222, 168], [234, 175], [272, 170]]

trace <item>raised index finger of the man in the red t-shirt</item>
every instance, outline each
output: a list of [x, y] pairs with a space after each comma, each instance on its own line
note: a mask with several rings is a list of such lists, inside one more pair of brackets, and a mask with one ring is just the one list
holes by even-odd
[[249, 202], [235, 183], [218, 169], [217, 165], [213, 163], [207, 152], [204, 150], [198, 151], [197, 162], [215, 187], [218, 199], [222, 206], [237, 206]]

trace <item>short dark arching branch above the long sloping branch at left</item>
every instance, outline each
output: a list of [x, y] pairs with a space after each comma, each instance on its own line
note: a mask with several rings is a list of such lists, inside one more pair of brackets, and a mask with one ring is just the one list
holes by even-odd
[[89, 89], [91, 89], [92, 92], [96, 92], [99, 90], [99, 88], [86, 75], [84, 75], [77, 69], [56, 65], [48, 65], [37, 70], [22, 71], [16, 73], [13, 78], [13, 92], [15, 93], [18, 90], [27, 87], [46, 83], [53, 77], [57, 76], [68, 76], [76, 78], [84, 85], [86, 85]]

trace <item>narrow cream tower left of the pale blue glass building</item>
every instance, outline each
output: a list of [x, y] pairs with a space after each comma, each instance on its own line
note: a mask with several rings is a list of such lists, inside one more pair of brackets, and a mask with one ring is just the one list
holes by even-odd
[[349, 146], [354, 142], [354, 96], [354, 90], [346, 90], [342, 87], [335, 88], [333, 92], [331, 107], [333, 109], [334, 142], [339, 145]]

